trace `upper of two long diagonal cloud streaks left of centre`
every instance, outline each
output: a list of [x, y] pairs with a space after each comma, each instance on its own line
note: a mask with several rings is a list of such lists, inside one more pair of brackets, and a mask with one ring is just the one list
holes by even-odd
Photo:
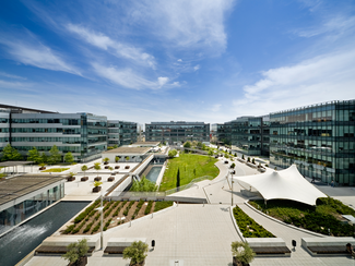
[[94, 33], [87, 28], [79, 25], [68, 24], [68, 31], [79, 35], [86, 43], [96, 46], [103, 50], [114, 50], [114, 53], [120, 58], [127, 58], [133, 60], [135, 63], [147, 64], [151, 68], [155, 68], [155, 59], [153, 56], [141, 51], [141, 49], [133, 46], [123, 45], [119, 41], [115, 41], [107, 37], [103, 33]]

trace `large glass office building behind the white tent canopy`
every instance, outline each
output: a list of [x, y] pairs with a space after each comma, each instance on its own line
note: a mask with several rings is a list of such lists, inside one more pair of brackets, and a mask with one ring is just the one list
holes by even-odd
[[355, 100], [270, 114], [270, 162], [307, 177], [355, 184]]

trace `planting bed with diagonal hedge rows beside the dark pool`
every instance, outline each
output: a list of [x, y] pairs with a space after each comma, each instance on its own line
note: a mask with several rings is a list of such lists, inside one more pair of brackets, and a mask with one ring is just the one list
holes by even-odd
[[[84, 211], [74, 218], [74, 223], [62, 231], [64, 234], [93, 234], [100, 227], [100, 201], [95, 201]], [[173, 202], [108, 202], [104, 201], [104, 231], [133, 219], [173, 206]], [[118, 219], [119, 218], [119, 219]]]

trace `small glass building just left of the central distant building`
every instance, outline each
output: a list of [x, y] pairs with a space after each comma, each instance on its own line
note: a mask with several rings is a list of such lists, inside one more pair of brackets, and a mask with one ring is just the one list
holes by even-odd
[[129, 145], [137, 142], [137, 123], [109, 120], [108, 146]]

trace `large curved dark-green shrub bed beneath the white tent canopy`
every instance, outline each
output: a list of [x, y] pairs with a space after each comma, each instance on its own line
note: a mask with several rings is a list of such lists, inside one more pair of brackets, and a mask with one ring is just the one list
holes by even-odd
[[263, 213], [268, 211], [270, 216], [281, 221], [313, 232], [330, 233], [333, 237], [354, 234], [353, 226], [348, 225], [342, 215], [355, 217], [355, 210], [332, 197], [318, 198], [316, 207], [286, 200], [268, 201], [268, 207], [263, 201], [249, 201], [249, 204]]

